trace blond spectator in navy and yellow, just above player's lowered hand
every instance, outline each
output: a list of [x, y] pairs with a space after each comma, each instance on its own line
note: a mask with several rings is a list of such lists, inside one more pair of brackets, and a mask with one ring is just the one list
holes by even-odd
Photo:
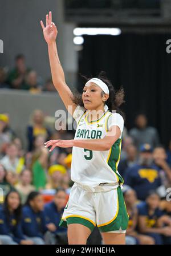
[[45, 140], [51, 136], [51, 131], [44, 125], [43, 111], [36, 109], [32, 114], [32, 125], [27, 127], [28, 151], [32, 151], [34, 139], [38, 135], [43, 135]]

